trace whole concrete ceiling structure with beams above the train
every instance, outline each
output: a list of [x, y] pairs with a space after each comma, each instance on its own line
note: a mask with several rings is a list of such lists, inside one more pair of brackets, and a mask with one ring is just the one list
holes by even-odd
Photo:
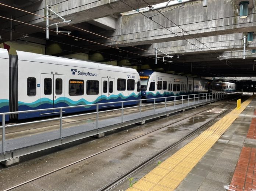
[[[166, 0], [145, 1], [153, 5]], [[55, 56], [63, 56], [71, 52], [85, 52], [90, 55], [100, 52], [104, 57], [102, 61], [127, 60], [127, 63], [124, 61], [122, 65], [181, 75], [256, 76], [256, 69], [254, 70], [256, 56], [251, 54], [251, 49], [256, 49], [256, 40], [246, 43], [246, 59], [243, 59], [243, 36], [247, 35], [247, 32], [256, 32], [255, 0], [253, 0], [253, 8], [248, 11], [248, 18], [245, 19], [239, 18], [237, 0], [211, 0], [208, 1], [206, 8], [203, 7], [202, 0], [192, 0], [181, 7], [178, 7], [180, 4], [163, 7], [158, 11], [166, 12], [163, 15], [153, 16], [152, 19], [149, 17], [158, 14], [157, 10], [121, 15], [122, 12], [132, 11], [132, 8], [146, 7], [145, 1], [126, 0], [124, 4], [121, 0], [102, 0], [92, 4], [88, 4], [88, 1], [87, 4], [85, 1], [74, 4], [71, 1], [55, 0], [56, 5], [52, 6], [53, 10], [58, 10], [66, 20], [73, 20], [70, 24], [72, 26], [60, 25], [60, 30], [71, 31], [71, 36], [79, 37], [80, 40], [74, 41], [74, 37], [50, 32], [46, 47], [53, 43], [60, 44], [63, 51]], [[0, 1], [0, 3], [4, 2], [15, 4], [15, 0]], [[30, 4], [23, 9], [45, 15], [46, 0], [30, 1]], [[3, 10], [1, 16], [9, 18], [10, 15], [15, 15], [19, 21], [45, 27], [45, 20], [38, 16], [24, 14], [4, 6], [0, 6], [0, 9]], [[107, 22], [116, 22], [115, 30], [110, 31], [114, 23], [108, 27], [104, 19], [94, 20], [105, 16], [113, 18], [113, 21], [108, 18]], [[56, 19], [54, 15], [52, 18]], [[1, 29], [4, 29], [0, 33], [3, 42], [10, 39], [8, 31], [10, 22], [1, 19], [1, 24]], [[21, 37], [20, 33], [45, 40], [43, 29], [16, 22], [13, 25], [14, 40]], [[172, 63], [163, 62], [163, 59], [159, 58], [155, 64], [155, 48], [173, 56], [165, 58]], [[163, 55], [159, 52], [157, 56]]]

